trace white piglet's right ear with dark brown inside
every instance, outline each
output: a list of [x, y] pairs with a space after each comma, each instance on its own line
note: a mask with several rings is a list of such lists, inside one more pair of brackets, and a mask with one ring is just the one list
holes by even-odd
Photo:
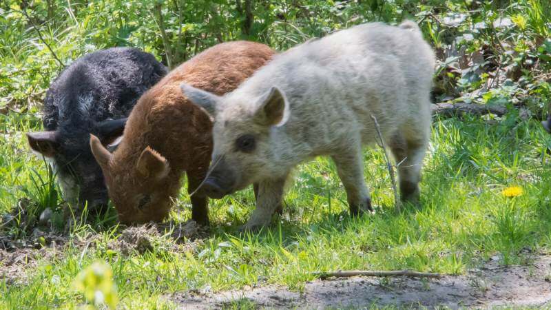
[[278, 87], [271, 87], [264, 94], [254, 112], [258, 123], [267, 126], [282, 126], [289, 119], [289, 102], [285, 94]]

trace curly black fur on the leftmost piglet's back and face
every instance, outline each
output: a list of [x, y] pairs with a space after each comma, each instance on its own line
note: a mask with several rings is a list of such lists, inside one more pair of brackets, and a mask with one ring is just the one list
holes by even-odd
[[167, 69], [152, 54], [110, 48], [77, 59], [50, 85], [43, 125], [58, 132], [54, 165], [60, 178], [79, 185], [81, 203], [107, 203], [103, 174], [90, 151], [90, 133], [101, 135], [99, 123], [128, 116], [141, 94], [165, 74]]

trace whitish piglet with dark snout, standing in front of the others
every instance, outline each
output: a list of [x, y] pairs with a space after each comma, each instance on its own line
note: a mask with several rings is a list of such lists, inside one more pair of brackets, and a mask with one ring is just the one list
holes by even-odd
[[283, 52], [235, 91], [216, 96], [183, 84], [214, 117], [214, 152], [201, 190], [222, 198], [258, 183], [246, 229], [269, 224], [291, 169], [333, 158], [355, 215], [371, 209], [362, 145], [377, 138], [395, 157], [402, 200], [419, 198], [430, 135], [435, 58], [417, 24], [366, 23]]

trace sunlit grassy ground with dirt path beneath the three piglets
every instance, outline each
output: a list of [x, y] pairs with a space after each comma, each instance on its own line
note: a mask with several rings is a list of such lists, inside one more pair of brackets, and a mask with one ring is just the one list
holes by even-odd
[[[85, 298], [74, 281], [93, 262], [112, 269], [119, 304], [133, 309], [340, 307], [339, 302], [536, 306], [548, 298], [551, 139], [535, 120], [515, 114], [435, 117], [422, 202], [404, 205], [399, 213], [381, 149], [366, 149], [375, 213], [360, 218], [348, 216], [333, 164], [318, 158], [295, 172], [283, 216], [245, 235], [238, 227], [251, 211], [250, 189], [211, 200], [213, 223], [207, 230], [186, 222], [185, 186], [163, 225], [125, 228], [110, 216], [74, 217], [61, 225], [33, 222], [17, 210], [39, 204], [43, 187], [34, 185], [32, 171], [48, 187], [46, 166], [25, 145], [23, 132], [36, 126], [34, 119], [10, 120], [3, 129], [10, 131], [4, 136], [10, 147], [0, 152], [8, 170], [3, 182], [12, 186], [2, 189], [18, 191], [0, 198], [4, 212], [10, 211], [0, 238], [2, 307], [76, 307]], [[447, 276], [322, 281], [311, 274], [338, 269]], [[242, 290], [247, 299], [229, 302], [228, 291]]]

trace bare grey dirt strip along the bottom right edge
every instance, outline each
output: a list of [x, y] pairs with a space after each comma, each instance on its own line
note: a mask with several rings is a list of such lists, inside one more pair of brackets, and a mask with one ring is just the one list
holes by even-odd
[[497, 259], [465, 276], [438, 280], [414, 278], [346, 278], [306, 283], [304, 293], [284, 287], [258, 287], [217, 294], [179, 293], [171, 300], [180, 309], [220, 309], [232, 302], [269, 309], [342, 307], [463, 307], [551, 305], [551, 256], [537, 256], [527, 266], [501, 267]]

